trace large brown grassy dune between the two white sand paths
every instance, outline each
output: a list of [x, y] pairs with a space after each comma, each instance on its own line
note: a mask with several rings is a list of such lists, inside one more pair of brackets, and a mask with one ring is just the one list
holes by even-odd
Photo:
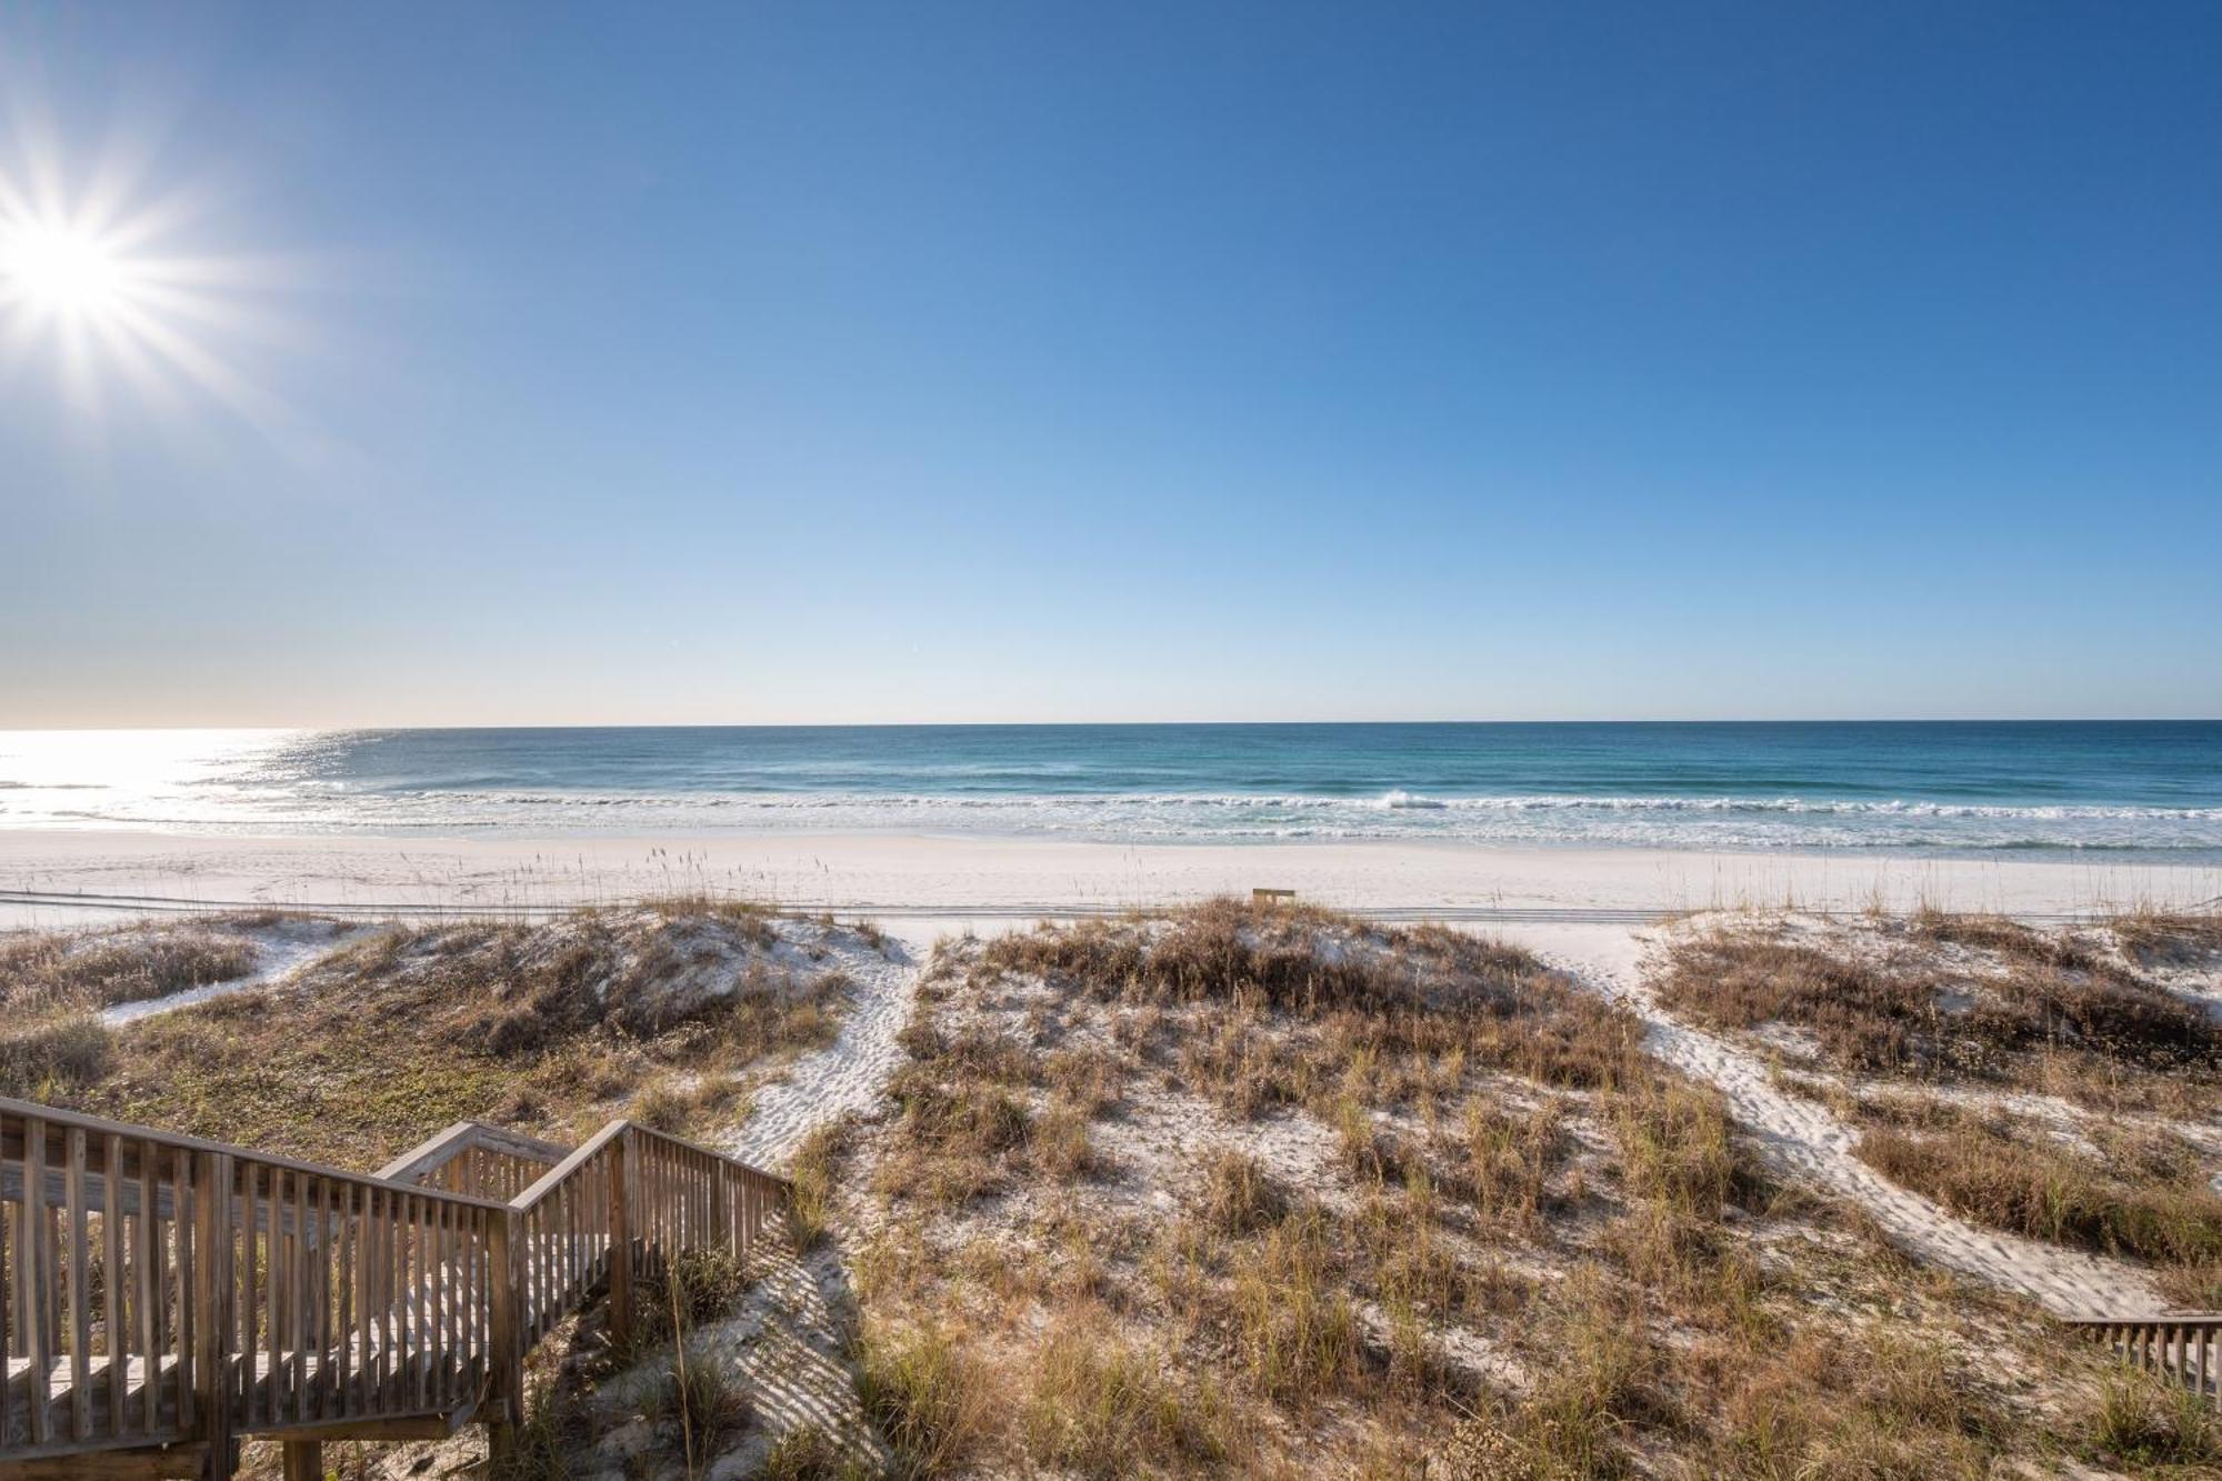
[[[1913, 1276], [1760, 1176], [1720, 1096], [1635, 1030], [1520, 952], [1320, 912], [958, 947], [898, 1112], [858, 1141], [889, 1443], [911, 1474], [2044, 1454], [1984, 1345], [2089, 1354], [2022, 1308], [1882, 1285]], [[1062, 1125], [1102, 1163], [1049, 1154]]]

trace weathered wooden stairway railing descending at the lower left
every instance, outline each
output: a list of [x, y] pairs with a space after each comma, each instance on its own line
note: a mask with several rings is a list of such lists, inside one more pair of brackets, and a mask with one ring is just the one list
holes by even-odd
[[320, 1474], [322, 1439], [469, 1419], [500, 1445], [556, 1323], [607, 1288], [622, 1334], [635, 1270], [747, 1252], [784, 1196], [627, 1121], [571, 1152], [464, 1123], [364, 1176], [0, 1099], [0, 1477], [131, 1450], [220, 1481], [236, 1434]]

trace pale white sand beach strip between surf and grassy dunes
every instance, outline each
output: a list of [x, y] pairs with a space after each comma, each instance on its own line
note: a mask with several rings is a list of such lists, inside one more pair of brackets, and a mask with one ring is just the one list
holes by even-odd
[[729, 894], [784, 910], [1060, 916], [1251, 887], [1358, 914], [1651, 918], [1693, 910], [2202, 907], [2222, 865], [1453, 841], [1098, 843], [922, 834], [569, 838], [0, 829], [0, 925], [102, 910], [551, 912]]

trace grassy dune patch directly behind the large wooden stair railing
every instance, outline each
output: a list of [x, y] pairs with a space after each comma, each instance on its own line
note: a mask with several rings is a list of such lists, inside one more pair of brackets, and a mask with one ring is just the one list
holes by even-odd
[[124, 1025], [49, 1099], [349, 1167], [462, 1119], [562, 1141], [631, 1110], [700, 1132], [738, 1112], [735, 1072], [824, 1043], [847, 992], [755, 941], [753, 918], [662, 912], [393, 927], [282, 987]]

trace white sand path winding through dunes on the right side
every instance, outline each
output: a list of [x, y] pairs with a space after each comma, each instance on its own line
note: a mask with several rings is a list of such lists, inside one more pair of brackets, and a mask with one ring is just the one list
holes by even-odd
[[1544, 950], [1538, 943], [1538, 954], [1642, 1014], [1651, 1052], [1684, 1074], [1718, 1085], [1731, 1114], [1758, 1134], [1762, 1152], [1778, 1167], [1855, 1201], [1909, 1254], [2029, 1296], [2055, 1316], [2169, 1310], [2151, 1276], [2135, 1265], [1978, 1230], [1862, 1163], [1853, 1154], [1858, 1134], [1829, 1107], [1775, 1090], [1766, 1065], [1755, 1056], [1689, 1027], [1651, 998], [1642, 974], [1644, 943], [1635, 932], [1618, 932], [1613, 943], [1591, 934], [1582, 947], [1587, 950]]

